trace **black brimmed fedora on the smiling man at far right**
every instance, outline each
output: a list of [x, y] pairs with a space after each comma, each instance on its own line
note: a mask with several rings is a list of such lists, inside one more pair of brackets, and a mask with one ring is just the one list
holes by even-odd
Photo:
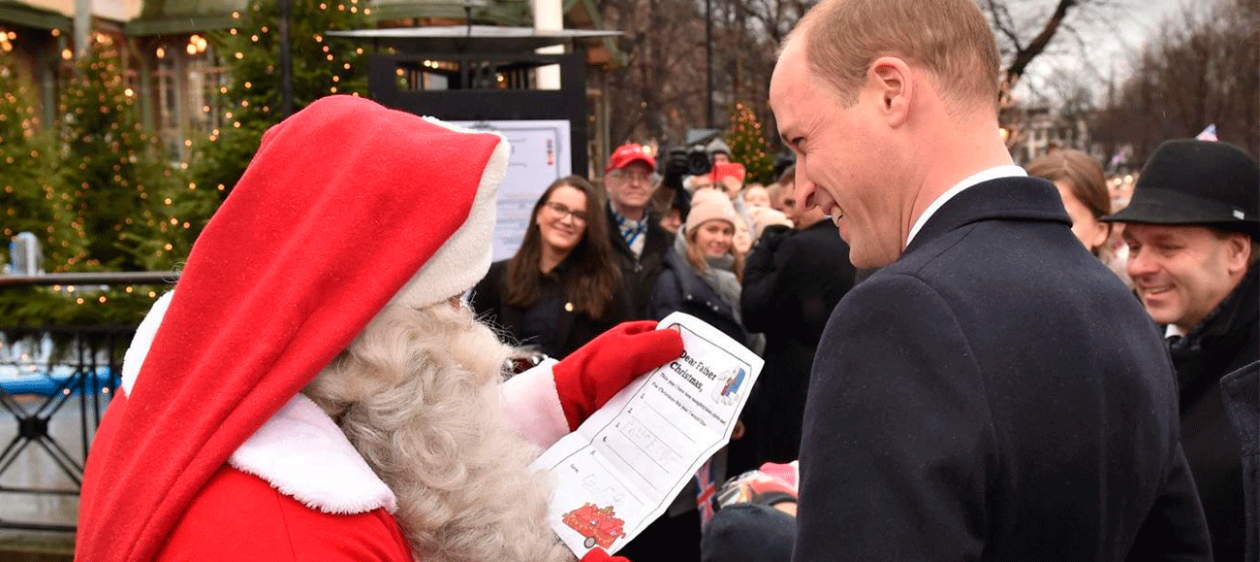
[[1142, 169], [1129, 207], [1102, 221], [1197, 224], [1260, 237], [1260, 166], [1225, 142], [1164, 141]]

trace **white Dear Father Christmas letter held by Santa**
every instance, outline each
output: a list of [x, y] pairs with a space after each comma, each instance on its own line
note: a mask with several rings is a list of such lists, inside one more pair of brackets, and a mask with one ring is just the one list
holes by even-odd
[[543, 452], [554, 479], [549, 523], [580, 558], [616, 552], [660, 515], [731, 439], [762, 359], [699, 319], [675, 313], [683, 355], [639, 377]]

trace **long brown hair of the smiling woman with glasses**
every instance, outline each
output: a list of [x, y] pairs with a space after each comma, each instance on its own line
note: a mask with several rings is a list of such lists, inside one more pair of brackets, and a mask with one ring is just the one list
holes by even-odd
[[520, 249], [508, 260], [507, 292], [504, 299], [513, 306], [532, 306], [538, 301], [542, 272], [538, 265], [543, 256], [543, 238], [538, 229], [538, 213], [551, 199], [552, 192], [573, 188], [586, 194], [586, 232], [570, 252], [567, 260], [577, 272], [577, 280], [568, 290], [576, 311], [595, 320], [602, 320], [612, 310], [614, 295], [621, 284], [621, 271], [612, 262], [612, 244], [609, 242], [609, 224], [604, 213], [604, 199], [590, 181], [577, 175], [561, 178], [547, 186], [529, 214], [529, 229]]

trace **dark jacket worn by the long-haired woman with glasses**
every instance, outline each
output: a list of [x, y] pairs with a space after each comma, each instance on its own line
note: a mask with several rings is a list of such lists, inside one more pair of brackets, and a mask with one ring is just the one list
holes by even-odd
[[595, 320], [573, 311], [570, 290], [577, 268], [567, 261], [543, 276], [539, 297], [532, 306], [507, 302], [508, 261], [490, 265], [490, 271], [472, 289], [471, 306], [478, 318], [500, 326], [519, 345], [537, 345], [548, 357], [563, 359], [575, 349], [617, 323], [630, 320], [630, 300], [619, 289], [606, 318]]

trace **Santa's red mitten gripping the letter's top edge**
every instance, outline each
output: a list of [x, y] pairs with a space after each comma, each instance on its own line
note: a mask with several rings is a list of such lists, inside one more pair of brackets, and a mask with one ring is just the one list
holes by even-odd
[[571, 353], [552, 367], [570, 431], [640, 374], [682, 354], [683, 336], [651, 320], [617, 324]]

